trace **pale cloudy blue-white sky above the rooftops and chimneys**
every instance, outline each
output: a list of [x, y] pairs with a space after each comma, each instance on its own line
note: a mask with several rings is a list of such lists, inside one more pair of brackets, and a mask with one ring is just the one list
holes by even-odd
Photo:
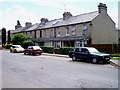
[[0, 0], [0, 29], [14, 30], [17, 20], [25, 26], [26, 22], [40, 23], [41, 18], [62, 18], [64, 12], [75, 16], [98, 11], [100, 2], [107, 5], [108, 15], [118, 27], [119, 0]]

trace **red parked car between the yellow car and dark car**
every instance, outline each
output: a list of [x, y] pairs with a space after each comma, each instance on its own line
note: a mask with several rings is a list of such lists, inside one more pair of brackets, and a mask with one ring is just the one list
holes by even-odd
[[39, 46], [28, 46], [28, 48], [24, 50], [24, 55], [26, 55], [26, 54], [41, 55], [42, 52], [43, 52], [43, 50]]

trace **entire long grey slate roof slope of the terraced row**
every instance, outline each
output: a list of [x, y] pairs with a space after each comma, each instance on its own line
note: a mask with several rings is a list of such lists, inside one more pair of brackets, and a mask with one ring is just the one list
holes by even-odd
[[63, 18], [60, 19], [54, 19], [46, 22], [44, 25], [41, 23], [37, 23], [31, 26], [27, 27], [20, 27], [12, 33], [18, 33], [22, 31], [32, 31], [35, 29], [45, 29], [45, 28], [51, 28], [51, 27], [58, 27], [58, 26], [65, 26], [65, 25], [72, 25], [72, 24], [78, 24], [78, 23], [84, 23], [92, 21], [95, 17], [99, 15], [98, 11], [90, 12], [90, 13], [84, 13], [76, 16], [72, 16], [66, 20], [63, 20]]

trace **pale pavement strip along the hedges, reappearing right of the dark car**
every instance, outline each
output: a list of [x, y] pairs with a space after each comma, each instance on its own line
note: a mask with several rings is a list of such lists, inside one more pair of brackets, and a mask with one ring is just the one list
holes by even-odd
[[[56, 57], [64, 57], [64, 58], [69, 58], [68, 55], [61, 55], [61, 54], [49, 54], [49, 53], [42, 53], [43, 55], [47, 56], [56, 56]], [[120, 67], [120, 60], [110, 60], [110, 64], [115, 67]]]

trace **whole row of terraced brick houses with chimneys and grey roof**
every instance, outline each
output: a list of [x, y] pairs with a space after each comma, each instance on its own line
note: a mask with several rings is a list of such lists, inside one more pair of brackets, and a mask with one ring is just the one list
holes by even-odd
[[40, 23], [26, 22], [25, 27], [17, 22], [11, 35], [24, 33], [36, 45], [60, 47], [81, 47], [92, 45], [111, 51], [112, 45], [118, 43], [115, 23], [107, 14], [106, 4], [100, 3], [98, 11], [73, 16], [64, 12], [63, 18], [48, 20], [42, 18]]

